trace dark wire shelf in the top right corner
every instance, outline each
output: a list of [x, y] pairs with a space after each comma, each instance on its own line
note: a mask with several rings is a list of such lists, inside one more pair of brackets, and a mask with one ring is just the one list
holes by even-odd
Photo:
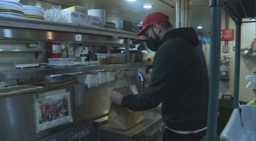
[[222, 7], [236, 23], [241, 22], [241, 18], [256, 19], [256, 0], [221, 0]]

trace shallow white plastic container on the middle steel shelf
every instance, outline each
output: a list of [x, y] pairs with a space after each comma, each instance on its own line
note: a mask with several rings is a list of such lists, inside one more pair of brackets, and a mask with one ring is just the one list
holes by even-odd
[[70, 65], [74, 64], [75, 58], [48, 58], [48, 65]]

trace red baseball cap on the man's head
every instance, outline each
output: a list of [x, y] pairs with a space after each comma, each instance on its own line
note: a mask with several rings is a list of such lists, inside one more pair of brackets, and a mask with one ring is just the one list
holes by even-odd
[[161, 12], [149, 13], [142, 22], [142, 29], [137, 33], [137, 35], [142, 35], [145, 32], [145, 28], [154, 23], [159, 23], [163, 21], [169, 21], [169, 17]]

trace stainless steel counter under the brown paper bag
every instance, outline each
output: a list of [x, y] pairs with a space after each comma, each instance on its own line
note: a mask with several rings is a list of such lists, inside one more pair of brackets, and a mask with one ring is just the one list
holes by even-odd
[[120, 130], [107, 125], [98, 128], [99, 140], [157, 140], [163, 134], [164, 124], [161, 112], [146, 110], [145, 118], [128, 130]]

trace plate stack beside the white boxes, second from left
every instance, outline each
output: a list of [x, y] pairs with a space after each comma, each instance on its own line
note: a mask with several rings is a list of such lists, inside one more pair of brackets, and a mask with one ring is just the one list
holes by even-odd
[[41, 7], [23, 5], [25, 17], [44, 19], [44, 10]]

